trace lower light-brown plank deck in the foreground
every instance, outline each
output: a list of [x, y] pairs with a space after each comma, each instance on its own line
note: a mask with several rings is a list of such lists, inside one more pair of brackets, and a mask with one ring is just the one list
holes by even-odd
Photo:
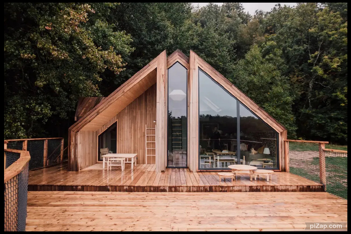
[[305, 222], [347, 222], [347, 200], [326, 192], [41, 191], [28, 192], [26, 222], [26, 231], [305, 230]]

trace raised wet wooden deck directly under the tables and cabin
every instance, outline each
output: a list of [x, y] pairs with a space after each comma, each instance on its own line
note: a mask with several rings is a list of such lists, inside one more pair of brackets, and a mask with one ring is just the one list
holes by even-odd
[[250, 181], [241, 175], [233, 183], [219, 182], [217, 172], [190, 172], [167, 168], [155, 172], [155, 164], [137, 164], [132, 171], [102, 169], [98, 163], [82, 171], [67, 171], [67, 164], [30, 171], [29, 191], [115, 191], [115, 192], [320, 192], [321, 184], [287, 172], [275, 172], [272, 181]]

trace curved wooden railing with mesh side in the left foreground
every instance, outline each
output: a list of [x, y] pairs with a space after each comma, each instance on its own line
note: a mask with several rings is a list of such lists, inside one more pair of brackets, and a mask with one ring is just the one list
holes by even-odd
[[28, 163], [31, 156], [28, 151], [6, 148], [5, 142], [5, 167], [8, 167], [4, 169], [4, 230], [25, 231]]

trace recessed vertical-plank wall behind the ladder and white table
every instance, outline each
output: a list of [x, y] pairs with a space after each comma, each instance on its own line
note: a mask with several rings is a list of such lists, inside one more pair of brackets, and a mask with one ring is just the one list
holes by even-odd
[[[148, 128], [154, 128], [156, 120], [156, 90], [154, 84], [146, 92], [130, 103], [120, 113], [115, 115], [97, 132], [99, 135], [111, 124], [117, 124], [117, 153], [138, 154], [137, 163], [145, 163], [145, 124]], [[152, 130], [149, 134], [152, 134]], [[153, 133], [155, 134], [155, 133]], [[148, 139], [151, 141], [154, 139]], [[151, 148], [151, 144], [148, 143]], [[155, 150], [149, 150], [149, 154], [155, 155]], [[97, 158], [97, 154], [95, 155]], [[155, 157], [149, 156], [148, 164], [155, 164]]]

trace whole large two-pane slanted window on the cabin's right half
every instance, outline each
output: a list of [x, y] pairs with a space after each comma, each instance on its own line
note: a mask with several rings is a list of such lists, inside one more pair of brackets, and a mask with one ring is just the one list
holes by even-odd
[[239, 157], [240, 164], [278, 167], [277, 133], [201, 69], [198, 102], [199, 169], [228, 169]]

